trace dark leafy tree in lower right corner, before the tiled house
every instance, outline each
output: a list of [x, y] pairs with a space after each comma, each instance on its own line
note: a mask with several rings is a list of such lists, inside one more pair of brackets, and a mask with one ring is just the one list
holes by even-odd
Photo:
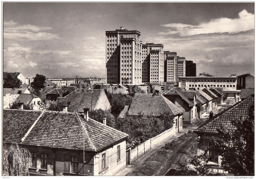
[[215, 149], [221, 166], [233, 175], [254, 175], [254, 105], [248, 115], [232, 120], [232, 129], [221, 126]]

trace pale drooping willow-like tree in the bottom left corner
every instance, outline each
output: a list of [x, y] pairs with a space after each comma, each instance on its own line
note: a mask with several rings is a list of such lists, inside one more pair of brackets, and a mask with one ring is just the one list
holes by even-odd
[[3, 144], [3, 175], [28, 176], [31, 164], [31, 154], [26, 148], [20, 148], [17, 143], [7, 148]]

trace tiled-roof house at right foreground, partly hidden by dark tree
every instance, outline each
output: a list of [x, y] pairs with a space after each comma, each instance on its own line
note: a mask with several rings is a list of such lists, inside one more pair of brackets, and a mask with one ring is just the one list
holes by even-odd
[[[215, 140], [219, 139], [218, 129], [220, 129], [222, 125], [224, 125], [224, 127], [226, 127], [228, 130], [232, 129], [232, 119], [239, 119], [241, 118], [241, 116], [247, 116], [249, 107], [253, 106], [254, 103], [255, 101], [253, 94], [241, 101], [240, 103], [237, 103], [232, 107], [229, 107], [228, 109], [217, 114], [216, 116], [213, 116], [204, 124], [202, 124], [198, 129], [196, 129], [194, 132], [197, 133], [198, 136], [197, 154], [200, 155], [205, 148], [211, 146], [213, 144], [213, 138]], [[219, 169], [221, 170], [221, 157], [215, 154], [214, 149], [211, 149], [209, 151], [209, 154], [210, 164], [212, 165], [212, 167], [215, 167], [215, 169], [217, 168], [216, 171], [219, 171]]]

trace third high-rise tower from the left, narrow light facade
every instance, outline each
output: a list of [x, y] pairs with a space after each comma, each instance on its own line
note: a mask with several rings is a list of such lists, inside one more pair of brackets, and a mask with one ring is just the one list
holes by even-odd
[[164, 51], [165, 82], [177, 83], [177, 52]]

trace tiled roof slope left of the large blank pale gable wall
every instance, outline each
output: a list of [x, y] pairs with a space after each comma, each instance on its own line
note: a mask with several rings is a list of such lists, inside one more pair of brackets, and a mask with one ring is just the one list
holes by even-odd
[[104, 90], [75, 90], [65, 97], [58, 97], [57, 103], [68, 105], [68, 111], [84, 112], [84, 108], [94, 110]]

